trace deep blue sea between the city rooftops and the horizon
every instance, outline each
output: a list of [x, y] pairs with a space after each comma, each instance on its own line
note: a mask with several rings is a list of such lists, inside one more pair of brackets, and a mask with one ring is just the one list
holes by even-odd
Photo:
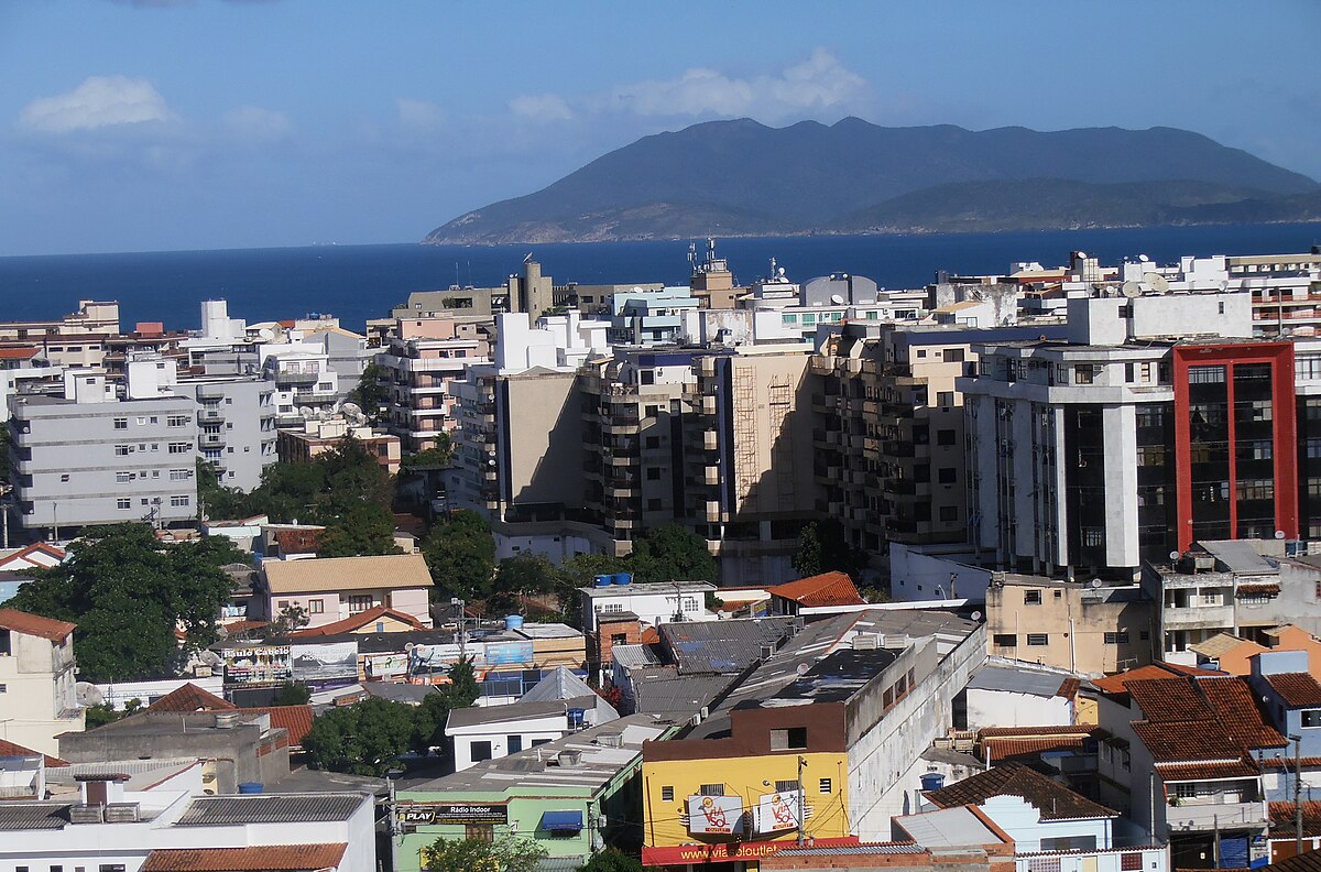
[[[1226, 225], [908, 236], [797, 236], [717, 240], [734, 276], [765, 275], [770, 258], [790, 279], [853, 272], [888, 288], [921, 287], [937, 270], [996, 273], [1016, 260], [1046, 266], [1083, 250], [1118, 263], [1145, 254], [1157, 263], [1180, 255], [1306, 251], [1321, 225]], [[699, 250], [703, 246], [699, 243]], [[490, 287], [518, 272], [534, 252], [556, 284], [664, 281], [686, 284], [688, 242], [559, 243], [543, 246], [318, 246], [148, 254], [0, 258], [0, 320], [52, 318], [79, 299], [118, 300], [125, 326], [199, 324], [202, 300], [226, 299], [247, 321], [333, 313], [349, 329], [386, 317], [412, 291], [450, 284]]]

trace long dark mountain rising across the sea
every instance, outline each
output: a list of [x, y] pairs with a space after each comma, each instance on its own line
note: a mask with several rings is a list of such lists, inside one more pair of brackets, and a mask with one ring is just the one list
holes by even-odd
[[[1269, 215], [1317, 182], [1168, 127], [771, 128], [709, 122], [643, 137], [534, 194], [454, 218], [424, 242], [494, 244], [720, 235], [1137, 226], [1198, 209]], [[1089, 209], [1090, 206], [1090, 209]], [[1273, 219], [1273, 218], [1267, 218]], [[1280, 218], [1284, 219], [1284, 218]]]

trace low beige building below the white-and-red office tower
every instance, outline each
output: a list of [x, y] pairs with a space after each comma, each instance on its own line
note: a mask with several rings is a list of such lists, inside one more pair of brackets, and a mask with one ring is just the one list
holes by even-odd
[[1156, 658], [1156, 604], [1136, 585], [996, 572], [987, 588], [988, 654], [1099, 678]]

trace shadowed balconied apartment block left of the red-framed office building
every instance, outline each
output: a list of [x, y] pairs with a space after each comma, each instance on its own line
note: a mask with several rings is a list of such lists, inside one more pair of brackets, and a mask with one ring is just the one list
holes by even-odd
[[816, 509], [873, 554], [968, 535], [963, 395], [976, 344], [1063, 336], [1057, 324], [845, 324], [811, 357]]

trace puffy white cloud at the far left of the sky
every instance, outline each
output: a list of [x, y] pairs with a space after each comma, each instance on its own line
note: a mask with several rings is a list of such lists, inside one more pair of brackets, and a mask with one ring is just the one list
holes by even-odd
[[151, 82], [124, 75], [92, 75], [67, 94], [28, 103], [18, 114], [21, 127], [44, 133], [169, 119], [165, 99]]

